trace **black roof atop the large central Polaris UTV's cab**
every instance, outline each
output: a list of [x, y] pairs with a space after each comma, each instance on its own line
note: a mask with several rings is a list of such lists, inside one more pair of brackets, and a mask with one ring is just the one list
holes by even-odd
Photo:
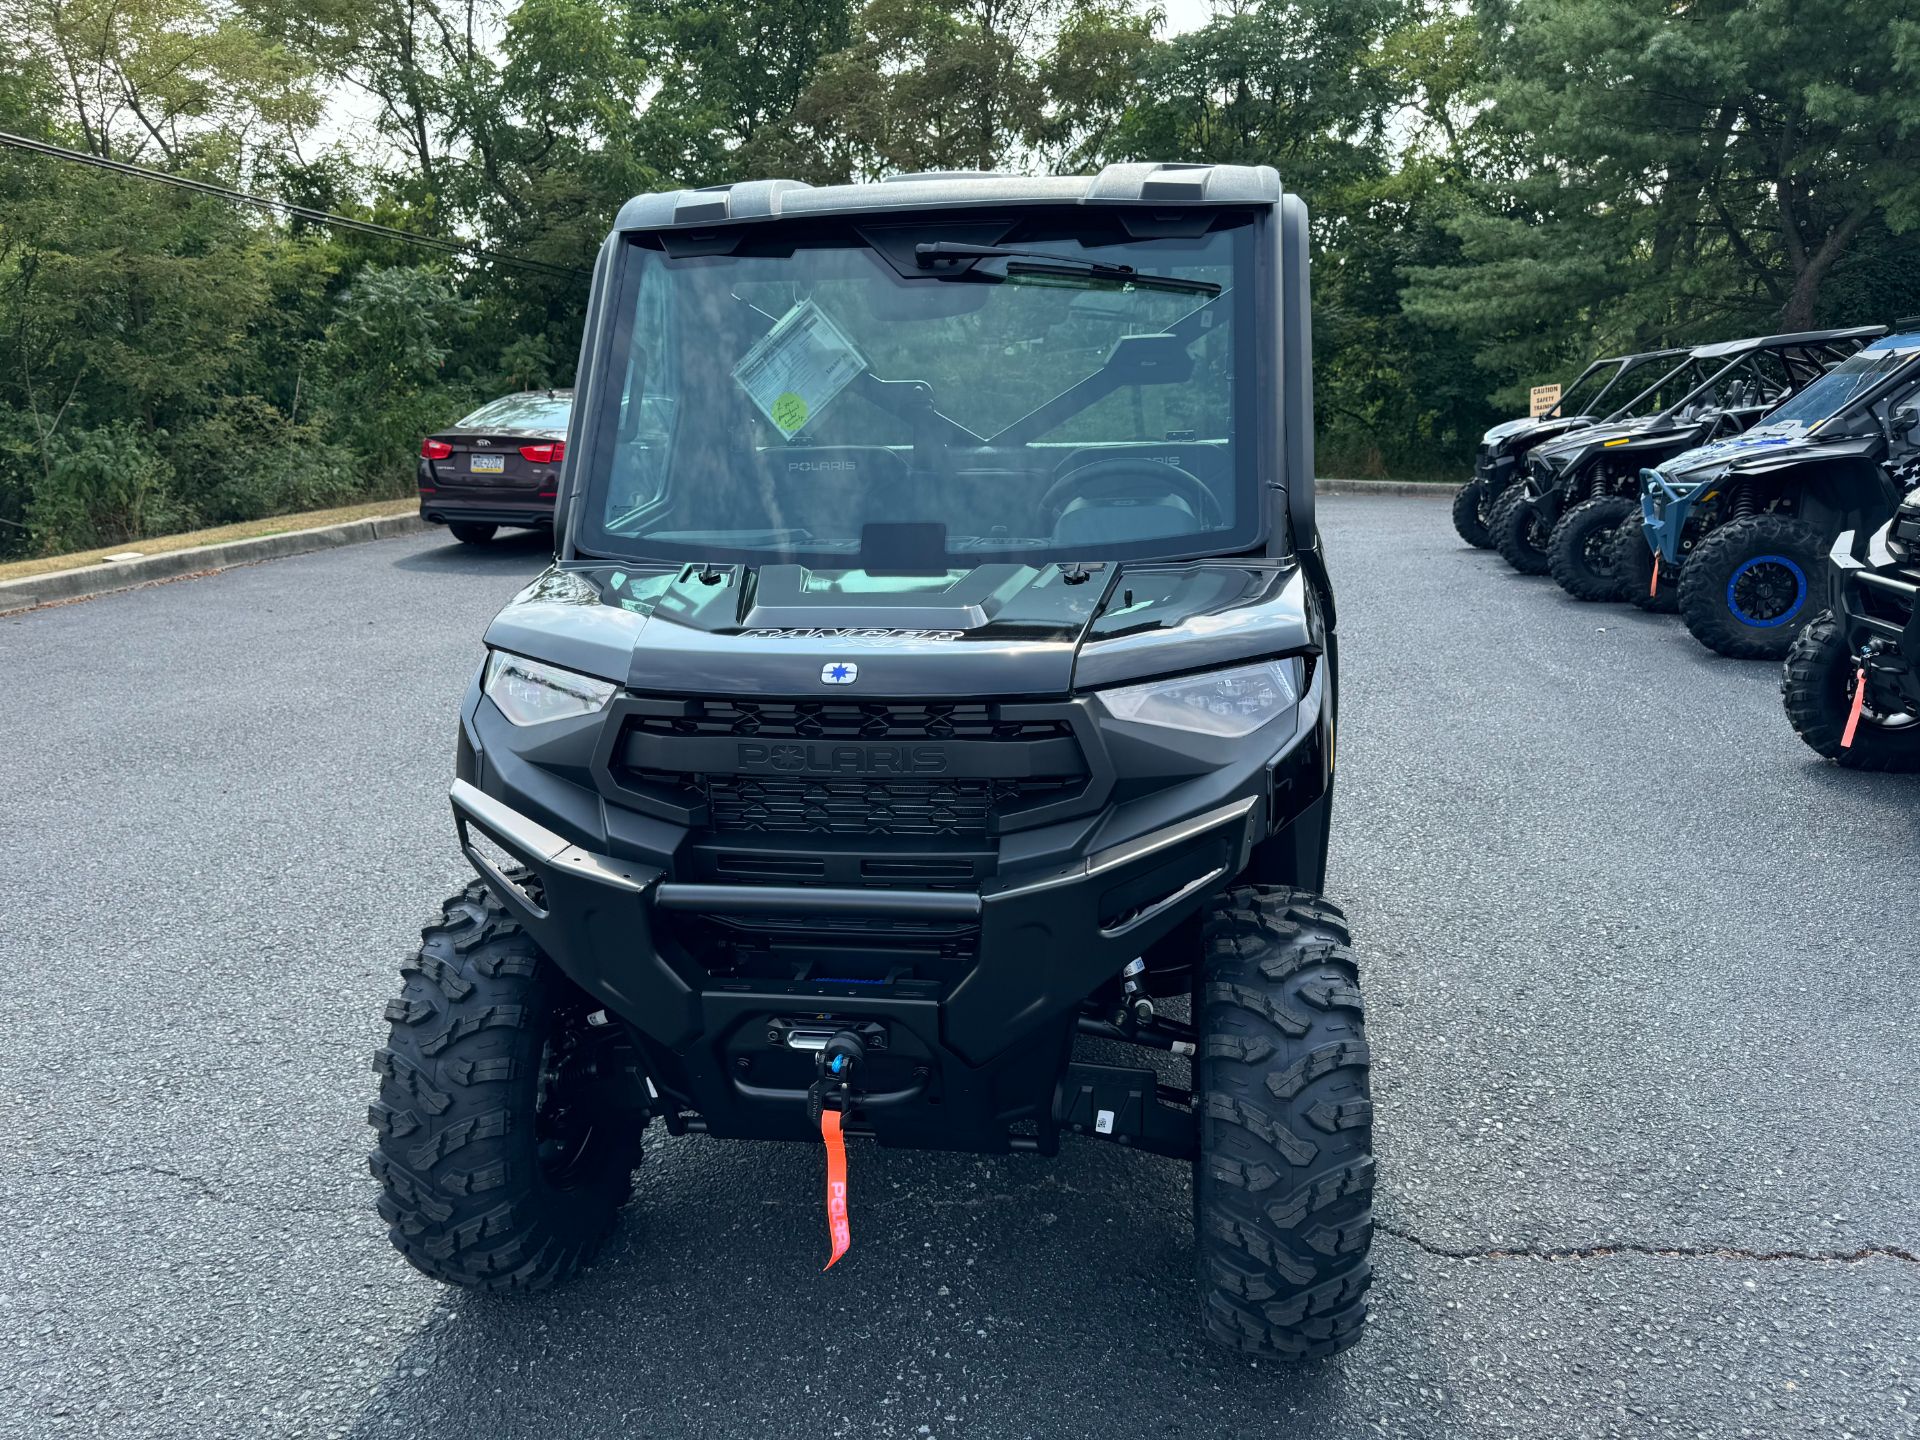
[[1098, 175], [925, 171], [874, 184], [741, 180], [701, 190], [634, 196], [616, 230], [766, 221], [791, 215], [868, 215], [962, 205], [1273, 205], [1281, 177], [1271, 165], [1108, 165]]

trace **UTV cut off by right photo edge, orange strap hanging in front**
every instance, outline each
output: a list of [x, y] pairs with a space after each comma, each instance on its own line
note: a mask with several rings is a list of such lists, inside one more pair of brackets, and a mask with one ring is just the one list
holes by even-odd
[[1920, 770], [1920, 490], [1834, 541], [1828, 582], [1782, 666], [1788, 722], [1849, 770]]

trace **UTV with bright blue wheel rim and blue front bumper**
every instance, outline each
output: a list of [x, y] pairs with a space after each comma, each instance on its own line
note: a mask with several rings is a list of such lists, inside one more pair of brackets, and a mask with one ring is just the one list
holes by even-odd
[[1778, 660], [1820, 605], [1836, 536], [1893, 515], [1920, 459], [1920, 332], [1876, 340], [1751, 430], [1642, 474], [1613, 572], [1647, 609], [1674, 595], [1720, 655]]

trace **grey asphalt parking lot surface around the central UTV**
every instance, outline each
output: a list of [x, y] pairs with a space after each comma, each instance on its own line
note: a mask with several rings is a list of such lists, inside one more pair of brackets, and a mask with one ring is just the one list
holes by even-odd
[[1329, 889], [1375, 1321], [1206, 1348], [1181, 1167], [657, 1137], [614, 1244], [451, 1294], [367, 1058], [463, 883], [453, 708], [541, 555], [378, 541], [0, 618], [0, 1436], [1920, 1436], [1920, 781], [1768, 664], [1329, 497]]

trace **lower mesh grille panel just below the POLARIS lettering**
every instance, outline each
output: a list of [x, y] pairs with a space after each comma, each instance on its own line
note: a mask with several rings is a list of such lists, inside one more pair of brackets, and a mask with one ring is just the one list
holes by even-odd
[[995, 814], [1077, 793], [1081, 780], [906, 780], [804, 776], [674, 776], [634, 780], [707, 808], [728, 835], [900, 835], [985, 839]]

